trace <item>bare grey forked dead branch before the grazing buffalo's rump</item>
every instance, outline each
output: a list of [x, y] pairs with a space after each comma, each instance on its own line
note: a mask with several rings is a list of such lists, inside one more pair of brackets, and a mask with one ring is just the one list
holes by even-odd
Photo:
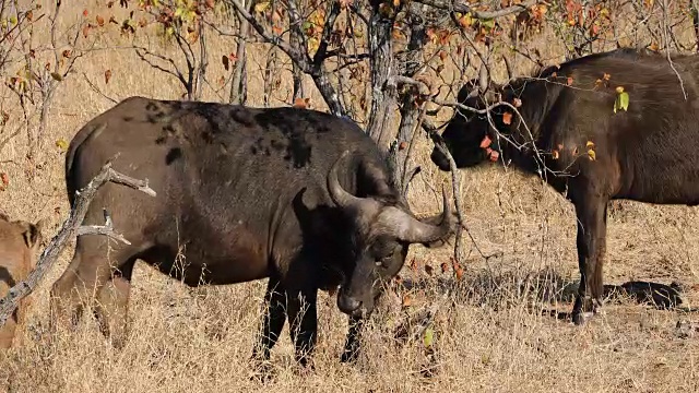
[[[116, 158], [116, 157], [115, 157]], [[63, 222], [61, 229], [51, 239], [48, 247], [44, 249], [39, 260], [25, 281], [17, 283], [10, 288], [8, 295], [3, 299], [0, 299], [0, 326], [4, 325], [8, 318], [12, 314], [14, 309], [17, 308], [20, 301], [29, 295], [44, 278], [46, 272], [56, 262], [61, 254], [68, 241], [73, 236], [82, 235], [106, 235], [120, 241], [125, 241], [123, 237], [117, 235], [111, 228], [111, 218], [105, 212], [105, 225], [104, 226], [81, 226], [81, 223], [85, 218], [87, 207], [95, 198], [97, 190], [107, 182], [114, 182], [130, 187], [132, 189], [145, 192], [151, 196], [155, 196], [155, 191], [149, 187], [147, 179], [139, 180], [130, 176], [120, 174], [111, 168], [111, 163], [115, 159], [108, 160], [103, 167], [99, 174], [94, 177], [87, 186], [75, 192], [76, 199], [73, 207], [70, 211], [68, 218]]]

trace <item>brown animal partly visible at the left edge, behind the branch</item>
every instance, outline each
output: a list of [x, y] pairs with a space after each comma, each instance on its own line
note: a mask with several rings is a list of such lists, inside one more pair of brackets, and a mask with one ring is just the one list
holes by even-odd
[[[36, 266], [36, 254], [42, 242], [44, 222], [36, 224], [25, 221], [10, 221], [0, 213], [0, 298], [5, 297], [11, 287], [26, 279]], [[32, 303], [31, 297], [20, 300], [20, 306], [0, 327], [0, 347], [12, 346], [17, 326], [24, 324]]]

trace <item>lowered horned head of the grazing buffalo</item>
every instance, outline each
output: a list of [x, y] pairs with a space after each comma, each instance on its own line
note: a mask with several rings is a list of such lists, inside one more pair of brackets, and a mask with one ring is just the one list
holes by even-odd
[[[346, 314], [364, 317], [374, 310], [382, 284], [403, 267], [408, 246], [427, 247], [443, 242], [454, 233], [454, 217], [442, 189], [443, 211], [439, 216], [417, 219], [400, 198], [359, 198], [347, 192], [337, 180], [337, 164], [328, 175], [328, 190], [352, 226], [345, 282], [337, 294], [337, 307]], [[436, 224], [433, 224], [436, 223]]]

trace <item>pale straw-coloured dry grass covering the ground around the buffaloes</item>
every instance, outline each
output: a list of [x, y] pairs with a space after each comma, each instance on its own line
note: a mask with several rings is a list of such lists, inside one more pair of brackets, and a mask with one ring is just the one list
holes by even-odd
[[[87, 9], [94, 12], [102, 10], [99, 7], [90, 1]], [[68, 24], [82, 8], [66, 8]], [[104, 37], [104, 41], [120, 45], [118, 34]], [[210, 44], [214, 59], [233, 48], [229, 41], [214, 38]], [[532, 46], [555, 55], [556, 48], [545, 38]], [[264, 64], [262, 50], [253, 48], [251, 52], [254, 63]], [[103, 80], [107, 67], [114, 75], [109, 84]], [[529, 69], [526, 64], [520, 68]], [[223, 68], [212, 62], [210, 72], [210, 80], [216, 80]], [[0, 171], [7, 171], [11, 180], [8, 190], [0, 192], [0, 209], [16, 218], [49, 217], [52, 227], [45, 236], [54, 234], [68, 210], [63, 153], [54, 142], [70, 140], [87, 119], [112, 105], [90, 88], [83, 73], [116, 99], [130, 95], [177, 98], [181, 94], [173, 79], [143, 66], [130, 50], [97, 50], [79, 62], [78, 73], [57, 93], [48, 135], [37, 157], [40, 169], [34, 176], [25, 175], [24, 134], [15, 138], [0, 157]], [[262, 73], [253, 71], [251, 78], [250, 104], [261, 105]], [[280, 100], [291, 92], [287, 80], [275, 94]], [[218, 99], [211, 91], [204, 98]], [[321, 102], [315, 91], [312, 100]], [[13, 117], [20, 116], [17, 108], [10, 109]], [[439, 209], [439, 198], [431, 189], [447, 179], [429, 163], [429, 150], [430, 144], [420, 140], [416, 159], [424, 171], [411, 193], [418, 213]], [[23, 343], [0, 360], [0, 385], [11, 392], [699, 389], [699, 333], [687, 336], [676, 329], [678, 321], [699, 322], [697, 315], [623, 302], [606, 307], [606, 314], [583, 327], [549, 317], [543, 312], [545, 309], [570, 311], [567, 295], [578, 281], [572, 207], [536, 179], [524, 179], [512, 171], [477, 169], [462, 176], [467, 224], [478, 247], [486, 254], [502, 251], [503, 255], [486, 263], [472, 250], [466, 279], [437, 314], [438, 369], [431, 378], [420, 376], [420, 342], [399, 345], [393, 340], [392, 326], [405, 312], [394, 298], [387, 298], [374, 319], [359, 364], [340, 365], [346, 319], [336, 309], [334, 298], [322, 294], [316, 371], [305, 373], [294, 366], [285, 327], [272, 355], [279, 371], [276, 379], [268, 385], [250, 381], [248, 359], [265, 283], [191, 289], [142, 264], [137, 265], [133, 278], [132, 332], [126, 348], [112, 349], [90, 320], [84, 320], [76, 333], [49, 341], [42, 334], [47, 322], [48, 289], [67, 266], [71, 246], [34, 293], [29, 325], [20, 333]], [[686, 288], [685, 301], [691, 306], [699, 288], [696, 210], [637, 203], [623, 203], [621, 207], [609, 218], [606, 282], [678, 281]], [[419, 261], [418, 266], [429, 263], [438, 271], [450, 252], [449, 248], [414, 248], [411, 258]], [[402, 275], [425, 278], [422, 267], [417, 273], [406, 267]], [[523, 283], [529, 283], [525, 288], [535, 290], [521, 290]], [[441, 301], [436, 279], [426, 287], [411, 312], [424, 302]]]

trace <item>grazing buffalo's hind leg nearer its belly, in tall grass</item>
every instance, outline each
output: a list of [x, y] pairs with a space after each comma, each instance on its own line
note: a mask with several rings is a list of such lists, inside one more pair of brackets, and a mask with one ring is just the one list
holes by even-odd
[[116, 348], [123, 347], [128, 335], [129, 295], [134, 264], [135, 258], [115, 271], [97, 297], [99, 326], [104, 335], [111, 338]]

